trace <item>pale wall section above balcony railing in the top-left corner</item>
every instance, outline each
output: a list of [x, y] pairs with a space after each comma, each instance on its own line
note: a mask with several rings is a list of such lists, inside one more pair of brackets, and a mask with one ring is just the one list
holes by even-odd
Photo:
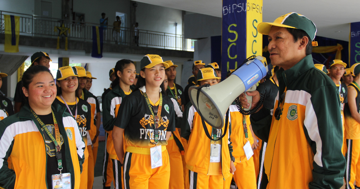
[[32, 15], [34, 6], [34, 0], [0, 0], [0, 10], [9, 12]]

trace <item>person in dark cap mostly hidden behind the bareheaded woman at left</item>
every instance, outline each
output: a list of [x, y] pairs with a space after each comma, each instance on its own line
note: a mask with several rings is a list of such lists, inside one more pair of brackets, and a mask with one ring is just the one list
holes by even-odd
[[[50, 57], [48, 53], [45, 52], [36, 52], [31, 56], [31, 65], [30, 66], [36, 66], [36, 65], [40, 65], [40, 66], [45, 66], [48, 69], [50, 68]], [[15, 95], [14, 95], [14, 112], [17, 113], [20, 111], [21, 107], [23, 107], [24, 103], [25, 103], [25, 97], [24, 97], [24, 93], [22, 91], [22, 83], [21, 81], [18, 82], [18, 84], [16, 84], [16, 88], [15, 88]]]

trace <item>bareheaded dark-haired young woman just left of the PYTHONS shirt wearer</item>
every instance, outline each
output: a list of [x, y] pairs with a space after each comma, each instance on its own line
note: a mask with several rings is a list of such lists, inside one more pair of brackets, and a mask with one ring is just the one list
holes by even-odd
[[119, 60], [115, 65], [115, 80], [111, 84], [112, 90], [104, 96], [103, 100], [103, 127], [108, 133], [106, 138], [106, 151], [112, 162], [112, 173], [116, 189], [122, 188], [122, 158], [114, 150], [113, 127], [118, 110], [122, 106], [125, 96], [132, 92], [136, 68], [134, 62], [127, 59]]

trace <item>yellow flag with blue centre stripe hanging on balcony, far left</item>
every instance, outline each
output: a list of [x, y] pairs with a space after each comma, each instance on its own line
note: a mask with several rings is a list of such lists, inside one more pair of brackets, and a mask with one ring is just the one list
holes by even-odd
[[4, 15], [5, 17], [5, 46], [4, 50], [8, 53], [19, 52], [19, 33], [20, 17], [14, 15]]

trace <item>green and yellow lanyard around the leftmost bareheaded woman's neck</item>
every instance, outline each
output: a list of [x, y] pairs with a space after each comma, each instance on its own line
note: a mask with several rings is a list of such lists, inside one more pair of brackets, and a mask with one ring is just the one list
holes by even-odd
[[42, 122], [39, 118], [39, 116], [37, 116], [37, 114], [30, 108], [30, 112], [32, 113], [33, 117], [35, 118], [35, 120], [37, 122], [39, 122], [39, 124], [41, 125], [42, 129], [44, 129], [44, 131], [46, 132], [46, 134], [49, 135], [50, 139], [54, 142], [55, 147], [56, 147], [56, 158], [58, 160], [58, 170], [61, 173], [61, 170], [63, 169], [63, 163], [62, 163], [62, 157], [61, 157], [61, 150], [60, 150], [60, 145], [61, 144], [61, 140], [60, 140], [60, 131], [59, 131], [59, 126], [58, 126], [58, 122], [56, 121], [55, 115], [53, 110], [51, 110], [51, 113], [53, 114], [53, 120], [54, 120], [54, 127], [55, 127], [55, 138], [54, 136], [51, 134], [51, 132], [49, 131], [48, 127], [46, 127], [46, 125], [44, 124], [44, 122]]

